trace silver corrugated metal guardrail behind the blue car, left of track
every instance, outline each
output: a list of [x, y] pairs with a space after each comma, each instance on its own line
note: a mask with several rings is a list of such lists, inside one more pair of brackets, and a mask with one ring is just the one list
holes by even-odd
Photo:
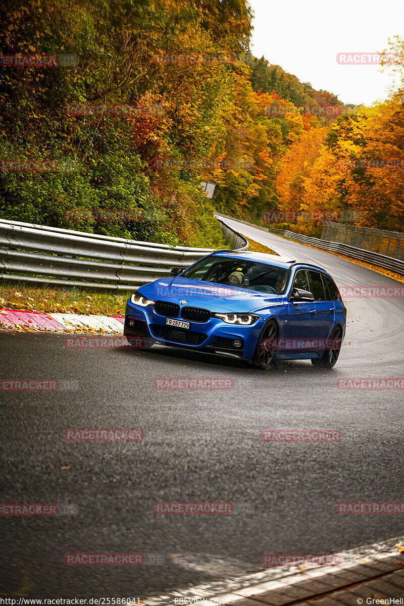
[[[227, 243], [247, 250], [243, 236], [223, 222], [220, 227]], [[136, 290], [213, 251], [0, 219], [0, 278], [7, 281]]]

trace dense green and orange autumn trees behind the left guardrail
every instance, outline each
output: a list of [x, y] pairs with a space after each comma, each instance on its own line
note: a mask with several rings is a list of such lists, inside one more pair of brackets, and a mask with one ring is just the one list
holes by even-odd
[[[18, 8], [3, 5], [0, 14], [2, 53], [78, 56], [70, 67], [3, 70], [0, 159], [68, 161], [73, 170], [2, 170], [1, 216], [173, 245], [223, 245], [217, 225], [208, 227], [215, 223], [213, 206], [197, 187], [200, 176], [161, 175], [153, 159], [210, 155], [227, 132], [233, 66], [184, 66], [181, 72], [155, 56], [247, 50], [251, 15], [244, 0], [200, 0], [193, 7], [182, 0], [22, 0]], [[157, 116], [65, 111], [78, 104], [163, 103]], [[71, 208], [133, 210], [147, 219], [69, 221]]]

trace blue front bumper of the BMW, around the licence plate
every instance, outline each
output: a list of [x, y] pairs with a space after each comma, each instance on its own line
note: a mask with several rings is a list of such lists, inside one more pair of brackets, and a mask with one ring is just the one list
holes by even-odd
[[[264, 323], [264, 319], [260, 318], [255, 324], [241, 326], [226, 324], [220, 318], [209, 318], [207, 322], [190, 322], [190, 328], [184, 329], [168, 326], [166, 319], [166, 316], [154, 311], [153, 305], [140, 308], [128, 301], [124, 335], [144, 336], [171, 347], [250, 360]], [[133, 327], [130, 322], [133, 322]], [[236, 347], [234, 341], [240, 341], [240, 347]]]

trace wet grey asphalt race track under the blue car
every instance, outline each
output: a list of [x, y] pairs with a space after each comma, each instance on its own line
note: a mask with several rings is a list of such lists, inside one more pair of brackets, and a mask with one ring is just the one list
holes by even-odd
[[[398, 285], [322, 251], [229, 222], [338, 285]], [[71, 381], [1, 393], [1, 501], [74, 504], [2, 517], [0, 596], [136, 597], [259, 570], [265, 553], [333, 553], [403, 534], [400, 515], [340, 515], [337, 502], [403, 501], [402, 391], [339, 390], [403, 376], [403, 299], [348, 299], [336, 367], [243, 362], [153, 347], [65, 348], [67, 335], [1, 333], [2, 379]], [[156, 390], [162, 377], [232, 378], [227, 391]], [[144, 442], [67, 442], [68, 428], [142, 428]], [[267, 443], [266, 429], [336, 429], [334, 443]], [[160, 501], [247, 504], [231, 515], [161, 515]], [[142, 566], [68, 566], [65, 553], [163, 554]], [[150, 558], [150, 556], [147, 556]]]

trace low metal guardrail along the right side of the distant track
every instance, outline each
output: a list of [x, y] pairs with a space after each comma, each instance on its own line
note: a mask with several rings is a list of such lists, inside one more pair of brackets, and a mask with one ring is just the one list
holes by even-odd
[[271, 229], [268, 231], [270, 231], [270, 233], [279, 234], [280, 236], [285, 236], [291, 240], [296, 240], [301, 244], [310, 244], [316, 248], [328, 250], [331, 253], [339, 253], [340, 255], [345, 255], [351, 259], [358, 259], [359, 261], [376, 265], [383, 269], [395, 271], [402, 276], [404, 275], [404, 261], [401, 261], [400, 259], [393, 259], [392, 257], [379, 255], [379, 253], [373, 253], [369, 250], [349, 246], [348, 244], [341, 244], [340, 242], [329, 242], [320, 240], [319, 238], [311, 238], [311, 236], [304, 236], [300, 233], [294, 233], [294, 231], [284, 229]]

